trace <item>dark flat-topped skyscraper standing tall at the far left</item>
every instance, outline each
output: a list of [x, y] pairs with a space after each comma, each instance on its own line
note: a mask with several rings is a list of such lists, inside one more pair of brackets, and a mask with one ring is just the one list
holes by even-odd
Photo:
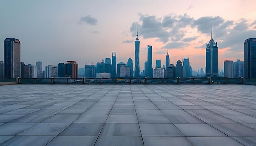
[[4, 78], [20, 77], [20, 41], [15, 38], [4, 40]]

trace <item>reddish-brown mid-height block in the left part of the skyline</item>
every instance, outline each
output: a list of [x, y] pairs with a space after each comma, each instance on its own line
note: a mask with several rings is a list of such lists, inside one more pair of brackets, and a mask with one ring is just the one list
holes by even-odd
[[78, 78], [78, 64], [76, 61], [67, 61], [67, 63], [65, 63], [65, 77], [72, 79]]

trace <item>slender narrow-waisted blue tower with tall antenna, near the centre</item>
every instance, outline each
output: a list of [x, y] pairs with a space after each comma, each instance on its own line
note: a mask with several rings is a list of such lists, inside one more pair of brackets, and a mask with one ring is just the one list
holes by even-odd
[[137, 28], [137, 38], [135, 39], [135, 68], [134, 68], [134, 77], [140, 77], [138, 28]]

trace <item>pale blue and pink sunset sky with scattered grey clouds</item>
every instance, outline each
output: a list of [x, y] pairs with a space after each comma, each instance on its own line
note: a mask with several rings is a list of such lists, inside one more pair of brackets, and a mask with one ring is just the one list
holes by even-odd
[[[21, 62], [57, 65], [101, 62], [117, 52], [117, 63], [132, 58], [138, 27], [140, 70], [147, 45], [165, 65], [188, 57], [193, 70], [205, 67], [206, 43], [218, 42], [224, 60], [244, 60], [243, 42], [256, 38], [255, 0], [0, 0], [0, 60], [4, 39], [21, 43]], [[44, 70], [44, 68], [43, 68]]]

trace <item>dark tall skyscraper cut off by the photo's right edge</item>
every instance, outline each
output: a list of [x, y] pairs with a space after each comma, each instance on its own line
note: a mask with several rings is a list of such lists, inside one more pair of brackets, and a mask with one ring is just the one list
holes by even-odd
[[256, 38], [248, 38], [245, 44], [245, 78], [256, 78]]

